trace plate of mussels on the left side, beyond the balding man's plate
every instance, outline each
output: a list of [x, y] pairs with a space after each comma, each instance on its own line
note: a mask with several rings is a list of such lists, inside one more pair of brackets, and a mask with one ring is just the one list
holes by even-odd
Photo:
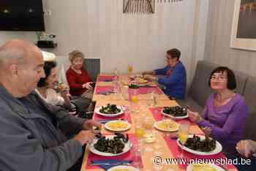
[[98, 115], [103, 115], [105, 117], [116, 117], [124, 113], [123, 107], [116, 104], [107, 104], [105, 106], [96, 107], [95, 113]]

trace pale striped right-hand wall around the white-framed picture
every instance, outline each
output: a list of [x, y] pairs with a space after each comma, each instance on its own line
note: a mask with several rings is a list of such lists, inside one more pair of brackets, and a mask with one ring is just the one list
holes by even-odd
[[256, 77], [256, 52], [230, 48], [234, 3], [210, 0], [205, 59]]

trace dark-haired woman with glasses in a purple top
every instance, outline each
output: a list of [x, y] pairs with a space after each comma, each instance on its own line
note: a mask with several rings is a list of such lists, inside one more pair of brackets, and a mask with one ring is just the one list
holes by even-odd
[[236, 94], [236, 77], [232, 70], [220, 66], [211, 72], [208, 85], [214, 94], [208, 97], [202, 117], [188, 110], [189, 119], [203, 132], [219, 141], [227, 153], [236, 152], [236, 143], [242, 140], [248, 114], [244, 98]]

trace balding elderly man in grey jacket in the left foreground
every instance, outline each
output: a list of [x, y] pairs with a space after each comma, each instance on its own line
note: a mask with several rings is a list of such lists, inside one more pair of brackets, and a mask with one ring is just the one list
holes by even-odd
[[[70, 116], [34, 92], [45, 77], [40, 50], [11, 40], [0, 47], [0, 170], [72, 170], [100, 123]], [[67, 139], [66, 135], [75, 136]]]

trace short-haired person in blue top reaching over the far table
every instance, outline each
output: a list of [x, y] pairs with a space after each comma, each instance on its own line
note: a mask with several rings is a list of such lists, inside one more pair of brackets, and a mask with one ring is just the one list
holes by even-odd
[[163, 91], [172, 99], [184, 99], [186, 94], [187, 74], [184, 65], [179, 61], [181, 52], [178, 49], [167, 50], [167, 66], [143, 75], [164, 75], [164, 77], [148, 76], [164, 86]]

